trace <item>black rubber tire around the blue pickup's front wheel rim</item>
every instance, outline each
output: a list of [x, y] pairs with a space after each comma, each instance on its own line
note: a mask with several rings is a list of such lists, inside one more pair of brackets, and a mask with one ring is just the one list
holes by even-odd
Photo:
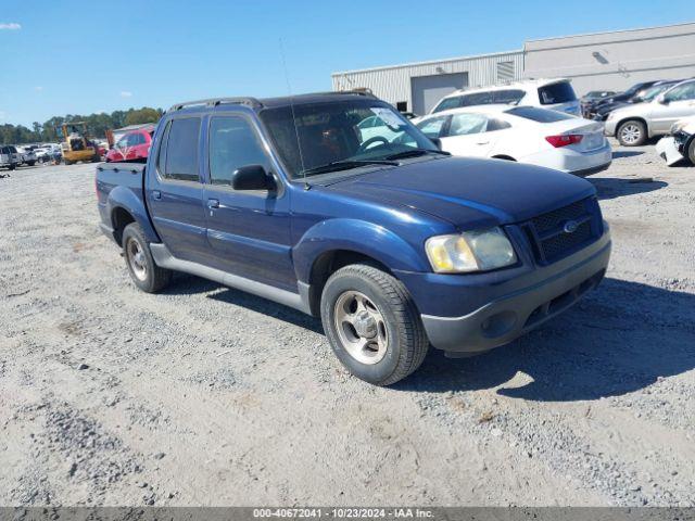
[[[383, 336], [388, 340], [386, 354], [372, 364], [362, 363], [351, 355], [337, 329], [339, 298], [353, 292], [366, 296], [383, 318]], [[333, 353], [361, 380], [390, 385], [413, 373], [425, 360], [429, 341], [413, 298], [401, 281], [378, 268], [354, 264], [336, 271], [324, 287], [320, 310], [324, 331]]]

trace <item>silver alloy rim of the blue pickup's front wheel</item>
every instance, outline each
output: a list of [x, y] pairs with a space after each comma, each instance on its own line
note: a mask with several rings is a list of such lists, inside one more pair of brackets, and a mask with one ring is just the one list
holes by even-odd
[[389, 347], [381, 312], [358, 291], [345, 291], [336, 301], [333, 320], [345, 351], [361, 364], [378, 364]]

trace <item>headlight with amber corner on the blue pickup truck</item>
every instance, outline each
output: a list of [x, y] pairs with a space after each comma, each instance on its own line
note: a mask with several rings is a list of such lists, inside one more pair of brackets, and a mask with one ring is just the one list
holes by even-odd
[[425, 243], [438, 274], [463, 274], [502, 268], [517, 262], [511, 243], [500, 228], [432, 237]]

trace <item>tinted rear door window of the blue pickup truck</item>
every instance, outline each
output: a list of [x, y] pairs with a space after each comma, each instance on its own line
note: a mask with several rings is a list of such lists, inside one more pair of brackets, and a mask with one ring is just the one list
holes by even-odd
[[198, 181], [200, 118], [185, 117], [169, 123], [166, 158], [162, 175], [178, 181]]

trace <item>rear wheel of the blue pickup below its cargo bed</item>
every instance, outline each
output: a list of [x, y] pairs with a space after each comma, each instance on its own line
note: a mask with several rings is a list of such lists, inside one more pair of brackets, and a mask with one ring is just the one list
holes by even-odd
[[[135, 285], [146, 293], [162, 291], [172, 281], [172, 270], [160, 268], [152, 258], [150, 245], [144, 238], [142, 228], [137, 223], [130, 223], [123, 230], [123, 256], [128, 266], [130, 278]], [[141, 253], [135, 260], [136, 250]], [[140, 267], [142, 269], [140, 269]]]

